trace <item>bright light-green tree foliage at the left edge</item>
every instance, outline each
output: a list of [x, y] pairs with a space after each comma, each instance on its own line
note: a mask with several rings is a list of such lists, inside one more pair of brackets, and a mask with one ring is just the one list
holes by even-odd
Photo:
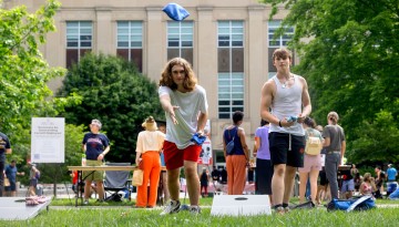
[[50, 0], [29, 14], [24, 6], [0, 9], [0, 126], [12, 144], [16, 159], [25, 159], [30, 151], [32, 116], [55, 116], [78, 96], [49, 99], [47, 83], [64, 74], [50, 68], [39, 51], [45, 34], [54, 31], [52, 17], [60, 3]]

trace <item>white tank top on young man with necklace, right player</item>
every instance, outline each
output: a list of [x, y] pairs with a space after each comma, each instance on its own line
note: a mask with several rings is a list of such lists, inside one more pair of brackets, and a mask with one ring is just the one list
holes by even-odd
[[[272, 114], [279, 120], [289, 116], [298, 116], [301, 113], [303, 86], [299, 82], [299, 76], [296, 74], [293, 75], [294, 84], [290, 87], [284, 86], [276, 75], [272, 78], [277, 87], [276, 95], [272, 102]], [[269, 132], [289, 133], [299, 136], [305, 135], [301, 124], [297, 122], [290, 127], [280, 127], [278, 124], [270, 124]]]

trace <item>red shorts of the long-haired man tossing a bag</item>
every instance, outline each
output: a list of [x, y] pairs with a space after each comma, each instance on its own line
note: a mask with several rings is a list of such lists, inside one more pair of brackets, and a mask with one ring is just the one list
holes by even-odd
[[165, 141], [163, 149], [166, 169], [175, 169], [182, 167], [184, 165], [184, 161], [198, 162], [202, 146], [190, 145], [184, 149], [180, 149], [175, 143]]

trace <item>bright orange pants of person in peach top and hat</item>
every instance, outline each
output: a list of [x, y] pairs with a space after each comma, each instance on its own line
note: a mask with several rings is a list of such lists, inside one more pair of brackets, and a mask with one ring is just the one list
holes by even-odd
[[[158, 152], [142, 154], [140, 168], [143, 169], [143, 184], [137, 187], [137, 207], [154, 207], [156, 204], [157, 187], [161, 175], [161, 158]], [[150, 182], [150, 194], [149, 194]]]

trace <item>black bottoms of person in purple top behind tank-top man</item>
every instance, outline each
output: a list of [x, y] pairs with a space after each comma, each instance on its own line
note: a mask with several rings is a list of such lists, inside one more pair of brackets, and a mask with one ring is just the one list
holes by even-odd
[[272, 161], [256, 158], [255, 193], [257, 195], [272, 195], [273, 173]]

